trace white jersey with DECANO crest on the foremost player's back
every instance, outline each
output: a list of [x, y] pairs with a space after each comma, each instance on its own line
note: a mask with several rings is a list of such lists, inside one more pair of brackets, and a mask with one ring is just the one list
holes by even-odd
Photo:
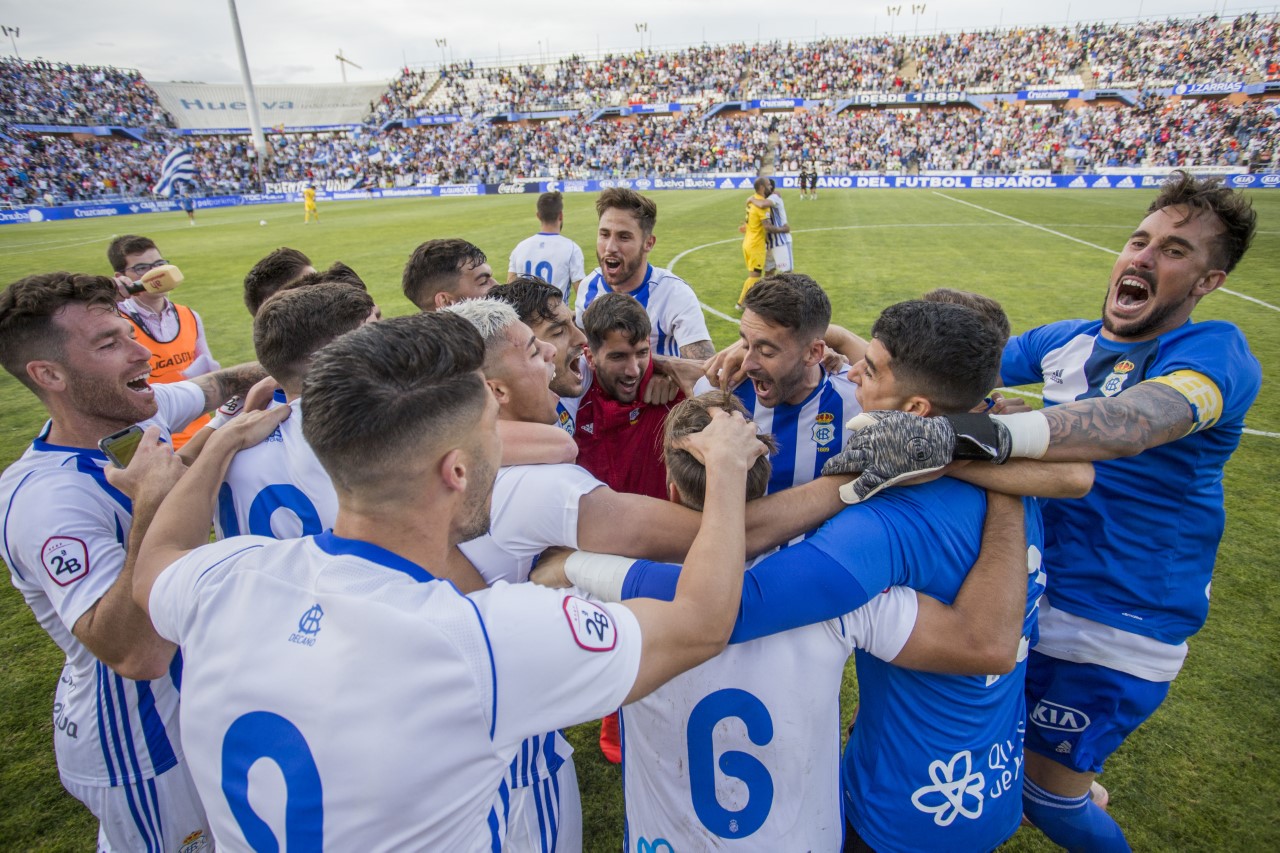
[[521, 744], [616, 708], [640, 662], [622, 606], [462, 596], [333, 533], [197, 548], [150, 603], [183, 648], [183, 747], [233, 849], [499, 850]]

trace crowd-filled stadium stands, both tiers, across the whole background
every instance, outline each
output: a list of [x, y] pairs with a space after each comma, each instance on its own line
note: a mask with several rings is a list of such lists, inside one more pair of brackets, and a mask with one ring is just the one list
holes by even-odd
[[[0, 78], [0, 204], [150, 192], [175, 143], [174, 122], [138, 72], [6, 59]], [[358, 188], [765, 167], [795, 172], [806, 160], [828, 173], [1270, 168], [1280, 155], [1275, 100], [1180, 99], [1162, 91], [1274, 78], [1280, 78], [1275, 15], [1082, 23], [404, 69], [370, 102], [364, 129], [269, 134], [262, 175], [247, 136], [182, 141], [192, 149], [206, 193], [256, 192], [264, 181]], [[986, 109], [955, 102], [833, 109], [840, 99], [867, 92], [991, 95], [1046, 86], [1129, 87], [1139, 96], [1133, 104], [996, 100]], [[808, 99], [810, 109], [713, 111], [762, 97]], [[602, 109], [637, 104], [681, 109], [593, 120]], [[449, 122], [401, 127], [422, 115]], [[90, 127], [110, 134], [91, 134]]]

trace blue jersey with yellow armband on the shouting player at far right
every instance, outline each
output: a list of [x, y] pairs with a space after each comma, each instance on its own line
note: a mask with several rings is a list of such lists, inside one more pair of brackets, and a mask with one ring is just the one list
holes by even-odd
[[1084, 498], [1046, 502], [1048, 598], [1055, 610], [1180, 644], [1208, 615], [1225, 524], [1222, 467], [1262, 370], [1229, 323], [1188, 321], [1140, 343], [1101, 332], [1100, 320], [1064, 320], [1012, 338], [1002, 382], [1043, 382], [1050, 406], [1157, 380], [1188, 398], [1194, 426], [1137, 456], [1096, 462]]

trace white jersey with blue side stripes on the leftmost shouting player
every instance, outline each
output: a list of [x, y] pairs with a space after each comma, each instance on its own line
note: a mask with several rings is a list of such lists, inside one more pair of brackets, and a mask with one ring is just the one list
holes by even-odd
[[[152, 389], [159, 412], [143, 428], [159, 425], [168, 434], [204, 411], [205, 394], [189, 382]], [[124, 566], [133, 502], [106, 482], [110, 462], [99, 450], [50, 444], [47, 434], [49, 424], [0, 476], [4, 561], [36, 621], [67, 656], [54, 697], [59, 774], [79, 785], [132, 785], [182, 761], [182, 656], [164, 678], [134, 681], [76, 639], [76, 622]], [[145, 789], [141, 794], [129, 804], [143, 815], [151, 807]]]

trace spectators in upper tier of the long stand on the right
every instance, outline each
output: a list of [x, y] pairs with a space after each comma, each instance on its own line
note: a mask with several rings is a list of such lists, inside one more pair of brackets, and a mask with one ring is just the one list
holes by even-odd
[[1027, 87], [1172, 86], [1276, 77], [1280, 24], [1257, 13], [1138, 24], [1002, 29], [936, 36], [822, 38], [611, 54], [554, 65], [406, 70], [374, 109], [379, 122], [415, 113], [466, 117], [626, 102], [751, 97], [838, 99], [920, 90], [969, 93]]

